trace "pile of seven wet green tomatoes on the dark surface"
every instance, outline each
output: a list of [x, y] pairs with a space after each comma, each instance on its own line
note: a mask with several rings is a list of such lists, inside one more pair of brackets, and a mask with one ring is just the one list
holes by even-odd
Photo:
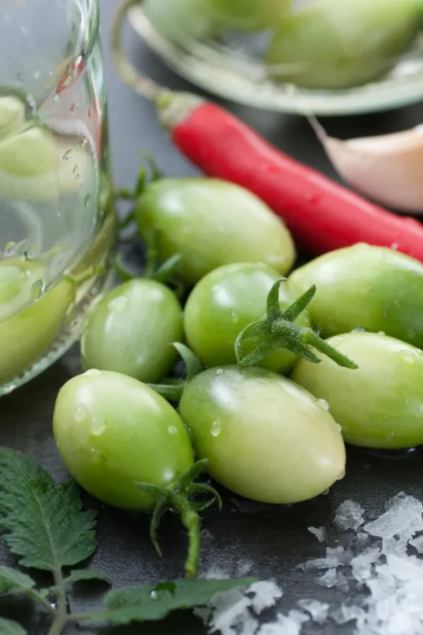
[[[178, 274], [193, 289], [183, 309], [161, 282], [130, 279], [88, 317], [88, 370], [61, 389], [54, 435], [92, 495], [149, 509], [154, 501], [136, 483], [173, 488], [195, 456], [239, 495], [298, 502], [343, 478], [344, 440], [386, 449], [423, 443], [421, 263], [360, 244], [281, 279], [295, 260], [286, 227], [251, 193], [214, 179], [150, 183], [136, 219], [161, 260], [180, 256]], [[280, 311], [268, 322], [266, 301], [278, 283]], [[288, 324], [287, 308], [313, 284], [308, 310]], [[257, 324], [271, 334], [292, 327], [300, 339], [319, 340], [318, 331], [358, 368], [326, 356], [312, 363], [312, 351], [289, 337], [289, 350], [266, 348], [269, 335], [256, 327], [243, 352], [261, 349], [258, 365], [237, 363], [240, 332]], [[172, 343], [184, 337], [198, 359], [188, 356], [182, 384], [166, 375], [176, 361]], [[159, 394], [166, 387], [179, 391], [177, 410]]]

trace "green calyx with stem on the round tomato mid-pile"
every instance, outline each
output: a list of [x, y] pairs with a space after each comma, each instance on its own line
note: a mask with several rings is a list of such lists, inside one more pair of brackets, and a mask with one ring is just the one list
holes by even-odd
[[[357, 364], [321, 339], [309, 327], [294, 324], [295, 320], [307, 309], [314, 298], [316, 286], [313, 285], [285, 310], [279, 304], [279, 287], [286, 278], [281, 278], [272, 286], [267, 296], [266, 315], [256, 322], [251, 322], [243, 329], [235, 341], [235, 355], [240, 368], [254, 366], [270, 353], [279, 349], [288, 349], [309, 362], [317, 364], [321, 361], [312, 351], [317, 349], [331, 358], [343, 368], [358, 368]], [[258, 337], [259, 344], [244, 356], [243, 342], [251, 337]]]

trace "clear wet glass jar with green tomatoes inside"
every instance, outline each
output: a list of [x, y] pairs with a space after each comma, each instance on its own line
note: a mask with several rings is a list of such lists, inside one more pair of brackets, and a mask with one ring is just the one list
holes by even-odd
[[110, 282], [97, 0], [0, 6], [0, 395], [56, 361]]

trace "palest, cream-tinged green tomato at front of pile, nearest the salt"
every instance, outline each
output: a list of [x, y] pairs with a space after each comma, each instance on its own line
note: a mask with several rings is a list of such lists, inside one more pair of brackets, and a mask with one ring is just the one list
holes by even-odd
[[344, 476], [342, 436], [324, 406], [270, 370], [226, 366], [190, 380], [179, 412], [210, 476], [278, 504], [317, 496]]

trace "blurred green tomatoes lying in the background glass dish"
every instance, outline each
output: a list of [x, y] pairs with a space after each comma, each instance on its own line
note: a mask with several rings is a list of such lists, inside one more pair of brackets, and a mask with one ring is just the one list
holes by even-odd
[[395, 66], [423, 23], [420, 0], [147, 0], [168, 37], [186, 42], [222, 28], [271, 29], [265, 61], [283, 82], [339, 89], [376, 80]]

